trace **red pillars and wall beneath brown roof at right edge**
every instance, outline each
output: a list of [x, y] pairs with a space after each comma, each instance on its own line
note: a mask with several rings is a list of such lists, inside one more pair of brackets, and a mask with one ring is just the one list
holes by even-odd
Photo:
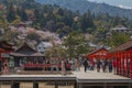
[[113, 57], [117, 75], [132, 78], [132, 52], [117, 52]]

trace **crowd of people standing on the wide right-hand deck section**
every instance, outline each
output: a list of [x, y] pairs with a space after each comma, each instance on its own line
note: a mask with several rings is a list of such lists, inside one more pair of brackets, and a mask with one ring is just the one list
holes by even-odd
[[[65, 62], [65, 61], [64, 61]], [[72, 70], [80, 70], [80, 67], [84, 66], [84, 72], [95, 70], [99, 73], [101, 69], [103, 73], [112, 73], [114, 69], [113, 59], [88, 59], [88, 58], [72, 58], [69, 61]], [[66, 67], [66, 66], [65, 66]]]

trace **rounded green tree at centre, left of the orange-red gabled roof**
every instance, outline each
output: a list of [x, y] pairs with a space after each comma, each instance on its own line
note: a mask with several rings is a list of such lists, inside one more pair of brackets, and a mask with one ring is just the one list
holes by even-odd
[[82, 33], [69, 33], [69, 35], [64, 40], [64, 45], [67, 48], [67, 56], [72, 58], [88, 53], [88, 46], [86, 45], [86, 43], [87, 41]]

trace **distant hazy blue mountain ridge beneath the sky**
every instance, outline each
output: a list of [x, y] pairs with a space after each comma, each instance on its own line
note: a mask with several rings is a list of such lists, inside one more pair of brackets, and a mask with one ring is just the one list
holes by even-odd
[[127, 16], [132, 20], [132, 10], [112, 7], [106, 3], [89, 2], [88, 0], [35, 0], [42, 4], [57, 4], [72, 11], [79, 11], [80, 13], [90, 10], [95, 14], [109, 13], [110, 15]]

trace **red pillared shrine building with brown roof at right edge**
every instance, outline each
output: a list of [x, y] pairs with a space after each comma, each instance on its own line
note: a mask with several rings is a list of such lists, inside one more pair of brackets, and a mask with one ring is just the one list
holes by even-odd
[[111, 51], [116, 63], [116, 74], [132, 78], [132, 41]]

